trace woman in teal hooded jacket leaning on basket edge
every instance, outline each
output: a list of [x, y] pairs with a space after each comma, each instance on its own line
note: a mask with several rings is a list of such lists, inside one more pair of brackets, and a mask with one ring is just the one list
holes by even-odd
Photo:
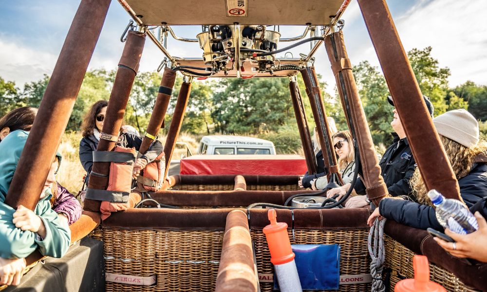
[[34, 212], [23, 206], [15, 210], [4, 203], [28, 135], [26, 131], [16, 130], [0, 143], [0, 257], [3, 259], [24, 258], [37, 248], [44, 256], [61, 257], [71, 242], [68, 226], [60, 223], [49, 202], [57, 160]]

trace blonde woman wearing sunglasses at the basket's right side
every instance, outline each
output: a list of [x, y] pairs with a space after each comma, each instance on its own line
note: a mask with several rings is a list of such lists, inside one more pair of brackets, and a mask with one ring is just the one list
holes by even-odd
[[[350, 131], [339, 131], [332, 136], [333, 146], [338, 156], [338, 167], [341, 170], [341, 177], [344, 183], [350, 183], [354, 177], [355, 170], [355, 153], [352, 141], [352, 135]], [[326, 176], [319, 177], [311, 182], [313, 189], [322, 190], [325, 189], [328, 184]]]

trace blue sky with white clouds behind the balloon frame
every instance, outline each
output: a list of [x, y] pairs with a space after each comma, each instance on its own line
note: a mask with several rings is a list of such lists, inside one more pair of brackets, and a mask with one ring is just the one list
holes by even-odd
[[[79, 2], [0, 0], [0, 77], [22, 88], [24, 83], [37, 81], [43, 74], [51, 75]], [[431, 46], [431, 55], [438, 59], [439, 66], [450, 68], [451, 87], [467, 80], [487, 85], [486, 0], [388, 0], [387, 3], [406, 51]], [[379, 67], [356, 0], [352, 0], [342, 18], [352, 64], [368, 60]], [[119, 39], [129, 19], [118, 1], [112, 0], [89, 70], [116, 69], [124, 45]], [[281, 37], [298, 36], [303, 29], [281, 26]], [[174, 31], [182, 37], [195, 38], [201, 27], [179, 26]], [[174, 56], [200, 57], [203, 53], [197, 43], [170, 38], [168, 49]], [[305, 44], [291, 52], [296, 57], [309, 49], [309, 44]], [[323, 46], [315, 56], [317, 72], [327, 82], [326, 90], [333, 93], [335, 79]], [[163, 58], [147, 39], [139, 71], [156, 70]]]

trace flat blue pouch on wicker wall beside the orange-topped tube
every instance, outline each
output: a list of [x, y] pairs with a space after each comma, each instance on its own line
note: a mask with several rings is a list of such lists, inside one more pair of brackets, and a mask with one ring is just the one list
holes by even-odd
[[[303, 290], [338, 290], [340, 246], [338, 244], [291, 245]], [[274, 290], [279, 290], [274, 277]]]

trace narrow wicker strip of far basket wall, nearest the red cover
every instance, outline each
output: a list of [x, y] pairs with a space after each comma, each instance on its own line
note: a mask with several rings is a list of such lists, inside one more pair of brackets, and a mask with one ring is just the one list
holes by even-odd
[[[177, 184], [174, 191], [233, 191], [234, 184]], [[303, 190], [296, 184], [249, 184], [247, 191], [299, 191]]]

